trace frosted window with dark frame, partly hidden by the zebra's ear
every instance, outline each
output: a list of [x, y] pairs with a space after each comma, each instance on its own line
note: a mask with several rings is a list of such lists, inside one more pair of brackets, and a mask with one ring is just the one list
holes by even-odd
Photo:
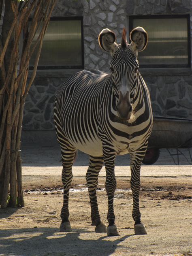
[[139, 53], [143, 68], [190, 67], [189, 15], [130, 16], [130, 31], [143, 27], [149, 36], [146, 49]]

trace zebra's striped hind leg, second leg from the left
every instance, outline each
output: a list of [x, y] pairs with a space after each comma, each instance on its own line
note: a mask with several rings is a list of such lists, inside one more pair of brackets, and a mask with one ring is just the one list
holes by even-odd
[[101, 222], [97, 203], [98, 175], [103, 166], [103, 157], [90, 156], [90, 164], [86, 174], [87, 187], [91, 203], [92, 225], [96, 226], [96, 233], [106, 233], [106, 226]]

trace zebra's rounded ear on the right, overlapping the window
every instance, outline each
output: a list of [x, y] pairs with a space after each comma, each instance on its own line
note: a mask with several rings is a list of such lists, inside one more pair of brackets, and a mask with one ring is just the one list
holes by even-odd
[[130, 32], [130, 48], [136, 54], [138, 51], [143, 51], [148, 43], [148, 34], [144, 28], [137, 27]]

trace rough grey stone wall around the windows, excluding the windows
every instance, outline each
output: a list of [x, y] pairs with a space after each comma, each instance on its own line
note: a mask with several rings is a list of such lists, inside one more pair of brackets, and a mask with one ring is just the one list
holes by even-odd
[[[109, 72], [110, 56], [98, 45], [103, 28], [113, 30], [117, 43], [130, 15], [186, 14], [190, 0], [59, 0], [53, 17], [83, 16], [85, 69]], [[142, 24], [141, 24], [142, 26]], [[192, 16], [191, 16], [192, 36]], [[78, 70], [39, 70], [26, 100], [24, 130], [52, 130], [54, 94], [60, 84]], [[149, 87], [154, 115], [192, 119], [192, 72], [186, 69], [141, 69]]]

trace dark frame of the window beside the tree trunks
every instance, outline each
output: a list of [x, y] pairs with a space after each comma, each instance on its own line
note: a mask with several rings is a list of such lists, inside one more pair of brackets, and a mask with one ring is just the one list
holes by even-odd
[[[31, 21], [32, 18], [29, 18]], [[51, 17], [50, 21], [66, 21], [80, 20], [81, 21], [81, 65], [58, 65], [58, 66], [37, 66], [37, 70], [59, 70], [59, 69], [84, 69], [84, 36], [83, 36], [83, 17], [82, 16], [67, 16], [67, 17]], [[49, 25], [48, 25], [49, 26]], [[33, 70], [33, 66], [29, 66], [29, 70]]]

